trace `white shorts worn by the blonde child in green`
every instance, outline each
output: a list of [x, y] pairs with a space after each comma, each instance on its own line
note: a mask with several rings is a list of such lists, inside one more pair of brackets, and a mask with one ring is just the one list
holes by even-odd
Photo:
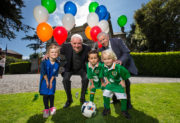
[[104, 90], [103, 96], [105, 97], [112, 97], [113, 93], [116, 95], [117, 99], [127, 99], [126, 93], [117, 93], [117, 92], [112, 92], [110, 90]]

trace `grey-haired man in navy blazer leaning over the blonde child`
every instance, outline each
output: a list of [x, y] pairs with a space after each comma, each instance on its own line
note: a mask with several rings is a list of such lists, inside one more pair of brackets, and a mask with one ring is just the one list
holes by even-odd
[[[117, 56], [116, 63], [123, 65], [131, 74], [137, 75], [137, 68], [134, 64], [132, 57], [130, 56], [130, 50], [124, 44], [121, 39], [111, 38], [107, 33], [101, 32], [97, 36], [98, 41], [102, 44], [102, 48], [99, 51], [106, 49], [112, 49]], [[131, 99], [130, 99], [130, 81], [129, 79], [125, 81], [126, 84], [126, 94], [127, 94], [127, 108], [132, 108]], [[116, 97], [113, 96], [114, 103], [118, 102]]]

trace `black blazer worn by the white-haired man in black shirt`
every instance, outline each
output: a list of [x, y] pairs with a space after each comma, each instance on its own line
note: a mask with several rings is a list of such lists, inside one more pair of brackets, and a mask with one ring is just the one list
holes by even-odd
[[[88, 52], [91, 50], [86, 44], [82, 44], [81, 61], [83, 63], [82, 69], [86, 71], [86, 62], [88, 62]], [[73, 48], [70, 43], [64, 43], [60, 50], [60, 54], [65, 56], [66, 64], [64, 66], [65, 72], [72, 71], [73, 63]]]

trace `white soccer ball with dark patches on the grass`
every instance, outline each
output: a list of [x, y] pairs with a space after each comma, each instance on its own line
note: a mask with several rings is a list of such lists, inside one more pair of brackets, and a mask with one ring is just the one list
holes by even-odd
[[93, 102], [84, 102], [81, 112], [85, 117], [91, 118], [96, 115], [96, 105]]

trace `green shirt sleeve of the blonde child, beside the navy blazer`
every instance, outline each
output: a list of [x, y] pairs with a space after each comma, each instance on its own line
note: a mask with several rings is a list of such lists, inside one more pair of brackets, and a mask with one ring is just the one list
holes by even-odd
[[119, 65], [119, 71], [123, 80], [127, 80], [131, 77], [129, 71], [125, 67]]

